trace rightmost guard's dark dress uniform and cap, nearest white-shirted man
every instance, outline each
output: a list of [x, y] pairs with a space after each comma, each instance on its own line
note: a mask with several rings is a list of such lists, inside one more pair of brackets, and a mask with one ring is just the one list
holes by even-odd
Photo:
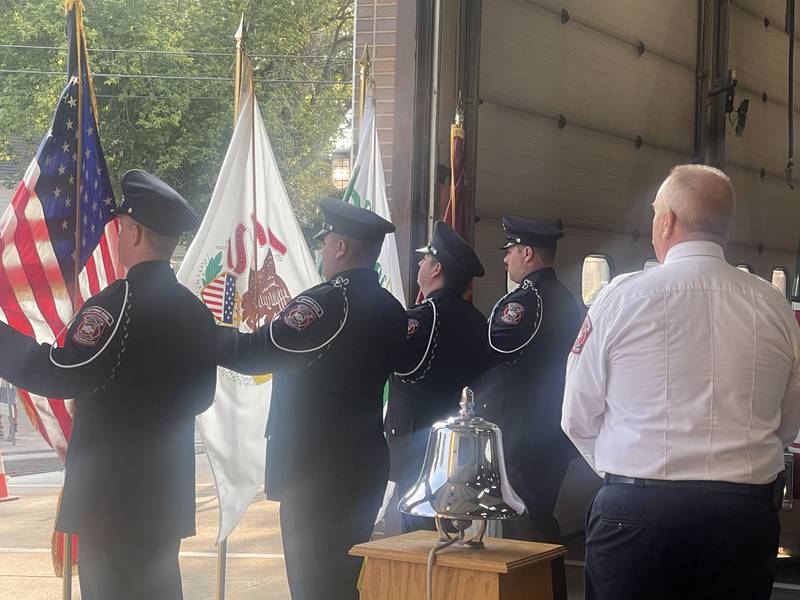
[[[507, 242], [555, 247], [559, 229], [538, 221], [504, 217]], [[503, 523], [504, 537], [560, 541], [553, 516], [574, 446], [561, 431], [564, 372], [581, 311], [555, 269], [529, 273], [495, 304], [489, 317], [491, 366], [478, 400], [487, 420], [503, 432], [506, 469], [528, 514]]]

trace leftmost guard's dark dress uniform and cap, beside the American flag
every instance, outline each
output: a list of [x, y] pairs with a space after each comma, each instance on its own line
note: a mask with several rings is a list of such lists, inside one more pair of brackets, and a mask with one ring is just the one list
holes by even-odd
[[[117, 213], [178, 237], [197, 217], [143, 171]], [[0, 377], [74, 398], [59, 531], [79, 536], [84, 600], [182, 598], [178, 549], [195, 534], [194, 419], [216, 387], [214, 318], [167, 260], [89, 298], [60, 347], [0, 324]]]

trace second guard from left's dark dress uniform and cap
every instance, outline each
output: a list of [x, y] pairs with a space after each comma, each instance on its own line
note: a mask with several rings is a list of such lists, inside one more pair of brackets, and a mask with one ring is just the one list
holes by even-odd
[[[323, 200], [329, 232], [380, 243], [394, 225]], [[220, 328], [223, 330], [224, 328]], [[293, 600], [356, 599], [361, 565], [389, 473], [383, 389], [402, 350], [405, 311], [374, 269], [338, 273], [296, 296], [252, 334], [219, 332], [219, 362], [273, 373], [265, 492], [280, 505]]]

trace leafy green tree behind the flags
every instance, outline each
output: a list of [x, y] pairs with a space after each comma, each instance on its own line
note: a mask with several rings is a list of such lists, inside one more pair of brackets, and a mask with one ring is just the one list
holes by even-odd
[[[329, 153], [350, 104], [353, 0], [85, 0], [84, 6], [112, 174], [151, 170], [200, 209], [232, 132], [233, 34], [244, 13], [267, 131], [298, 218], [314, 225], [316, 202], [334, 191]], [[23, 175], [65, 84], [64, 27], [63, 0], [0, 6], [0, 40], [27, 46], [0, 48], [0, 159], [19, 166], [9, 183]], [[10, 72], [20, 70], [56, 74]]]

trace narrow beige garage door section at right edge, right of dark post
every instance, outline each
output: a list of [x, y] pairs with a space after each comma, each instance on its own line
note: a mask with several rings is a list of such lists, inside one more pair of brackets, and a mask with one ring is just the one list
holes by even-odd
[[[744, 99], [750, 104], [741, 135], [735, 132], [735, 113], [726, 127], [725, 170], [737, 192], [727, 254], [729, 262], [751, 264], [766, 279], [775, 267], [794, 273], [800, 228], [800, 166], [793, 178], [796, 189], [789, 187], [784, 172], [789, 51], [785, 10], [784, 0], [736, 0], [730, 10], [728, 66], [736, 71], [734, 106]], [[795, 110], [795, 120], [798, 117]]]

